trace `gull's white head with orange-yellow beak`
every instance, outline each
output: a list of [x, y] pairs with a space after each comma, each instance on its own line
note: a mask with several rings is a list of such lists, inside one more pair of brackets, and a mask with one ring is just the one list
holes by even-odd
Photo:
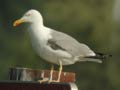
[[43, 24], [43, 18], [39, 11], [31, 9], [27, 11], [22, 18], [16, 20], [13, 26], [18, 26], [21, 23], [41, 23]]

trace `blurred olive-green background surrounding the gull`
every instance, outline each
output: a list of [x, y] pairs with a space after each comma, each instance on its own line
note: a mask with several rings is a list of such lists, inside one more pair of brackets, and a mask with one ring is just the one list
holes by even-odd
[[8, 79], [10, 67], [50, 68], [34, 52], [26, 26], [12, 26], [27, 10], [37, 9], [46, 26], [70, 34], [94, 51], [113, 55], [102, 64], [82, 62], [64, 67], [64, 71], [76, 73], [79, 90], [120, 90], [120, 22], [113, 18], [114, 1], [1, 0], [0, 80]]

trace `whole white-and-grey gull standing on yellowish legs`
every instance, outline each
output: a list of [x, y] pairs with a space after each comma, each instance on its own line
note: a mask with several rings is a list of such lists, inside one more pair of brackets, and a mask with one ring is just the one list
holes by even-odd
[[82, 61], [102, 63], [103, 59], [110, 56], [96, 53], [70, 35], [44, 26], [43, 17], [37, 10], [28, 10], [13, 23], [13, 26], [18, 26], [21, 23], [29, 24], [28, 32], [36, 53], [44, 60], [60, 65], [57, 80], [52, 80], [54, 69], [52, 65], [49, 82], [60, 82], [63, 65], [71, 65]]

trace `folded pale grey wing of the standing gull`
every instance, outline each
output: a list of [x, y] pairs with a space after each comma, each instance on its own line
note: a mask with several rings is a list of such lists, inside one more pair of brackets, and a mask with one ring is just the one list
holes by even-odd
[[65, 33], [52, 30], [51, 35], [51, 40], [54, 41], [57, 46], [73, 56], [95, 56], [95, 53], [88, 46], [79, 43], [77, 40]]

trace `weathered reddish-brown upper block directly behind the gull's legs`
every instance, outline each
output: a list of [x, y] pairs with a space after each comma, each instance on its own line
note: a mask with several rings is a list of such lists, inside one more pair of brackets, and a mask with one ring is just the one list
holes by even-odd
[[[49, 79], [50, 70], [30, 68], [10, 68], [10, 80], [35, 81]], [[57, 80], [58, 71], [53, 72], [53, 80]], [[62, 72], [60, 82], [75, 82], [75, 73]]]

